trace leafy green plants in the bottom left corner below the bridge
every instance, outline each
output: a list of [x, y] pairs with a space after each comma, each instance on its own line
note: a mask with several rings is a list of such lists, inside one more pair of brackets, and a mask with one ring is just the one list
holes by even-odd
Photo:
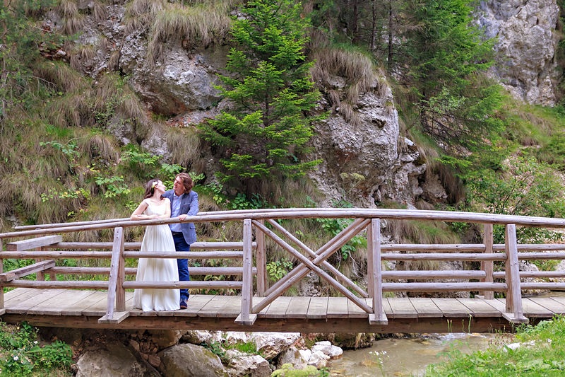
[[0, 322], [0, 376], [47, 376], [54, 370], [70, 373], [72, 351], [69, 344], [40, 344], [37, 329]]

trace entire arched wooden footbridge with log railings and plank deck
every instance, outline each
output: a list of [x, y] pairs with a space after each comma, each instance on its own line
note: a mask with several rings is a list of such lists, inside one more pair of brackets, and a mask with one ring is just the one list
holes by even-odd
[[[299, 239], [300, 232], [293, 234], [281, 225], [304, 219], [351, 222], [337, 236], [312, 250]], [[381, 244], [381, 221], [389, 220], [482, 224], [483, 243]], [[25, 265], [4, 272], [0, 263], [1, 320], [25, 320], [36, 326], [117, 329], [490, 332], [511, 331], [517, 323], [535, 323], [565, 313], [565, 297], [523, 297], [525, 291], [565, 290], [565, 272], [519, 270], [521, 260], [564, 260], [565, 245], [526, 245], [516, 240], [517, 226], [559, 229], [565, 227], [563, 219], [398, 209], [257, 209], [201, 213], [187, 221], [197, 227], [207, 222], [237, 221], [242, 224], [242, 238], [194, 243], [186, 253], [141, 253], [140, 243], [124, 240], [127, 227], [172, 224], [179, 222], [176, 218], [22, 226], [0, 233], [0, 260]], [[504, 244], [494, 244], [494, 225], [504, 226]], [[113, 240], [63, 241], [63, 236], [73, 237], [70, 233], [102, 229], [113, 229]], [[363, 286], [328, 262], [356, 236], [367, 238], [368, 274]], [[270, 285], [266, 266], [273, 260], [267, 250], [273, 246], [297, 262], [285, 277]], [[136, 282], [136, 268], [126, 267], [126, 261], [140, 257], [240, 262], [231, 263], [237, 267], [190, 268], [193, 277], [205, 275], [215, 279]], [[64, 260], [86, 262], [81, 267], [69, 267]], [[475, 265], [474, 269], [387, 271], [383, 269], [386, 261], [477, 263], [465, 264]], [[92, 267], [98, 265], [109, 267]], [[326, 280], [336, 294], [285, 296], [309, 274]], [[81, 279], [85, 276], [92, 279]], [[131, 306], [133, 289], [140, 288], [228, 289], [239, 294], [191, 294], [189, 308], [185, 310], [143, 312]], [[441, 292], [469, 293], [472, 298], [433, 297]], [[421, 297], [415, 297], [416, 293]], [[495, 293], [504, 298], [494, 298]]]

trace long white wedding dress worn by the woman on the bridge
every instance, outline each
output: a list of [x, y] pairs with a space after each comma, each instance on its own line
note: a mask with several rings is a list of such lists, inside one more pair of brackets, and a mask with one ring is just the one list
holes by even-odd
[[[168, 202], [168, 201], [167, 201]], [[165, 214], [166, 206], [149, 202], [145, 214]], [[174, 251], [174, 240], [167, 224], [150, 225], [145, 229], [141, 251]], [[178, 282], [177, 260], [172, 258], [139, 258], [137, 282]], [[176, 311], [180, 308], [179, 289], [135, 289], [133, 308], [143, 311]]]

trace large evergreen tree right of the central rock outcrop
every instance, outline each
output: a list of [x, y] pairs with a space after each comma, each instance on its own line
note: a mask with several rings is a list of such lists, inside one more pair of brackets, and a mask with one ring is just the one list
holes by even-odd
[[472, 0], [407, 3], [403, 85], [415, 94], [423, 131], [443, 146], [472, 149], [496, 134], [492, 117], [501, 103], [498, 86], [482, 79], [492, 64], [493, 40], [483, 40], [470, 17]]

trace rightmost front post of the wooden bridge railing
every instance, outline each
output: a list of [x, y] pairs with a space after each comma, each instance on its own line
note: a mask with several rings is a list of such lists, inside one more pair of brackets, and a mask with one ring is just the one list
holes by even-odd
[[518, 265], [518, 242], [516, 224], [506, 224], [504, 250], [506, 251], [506, 313], [504, 318], [513, 323], [528, 322], [523, 315], [522, 290], [520, 287], [520, 268]]

